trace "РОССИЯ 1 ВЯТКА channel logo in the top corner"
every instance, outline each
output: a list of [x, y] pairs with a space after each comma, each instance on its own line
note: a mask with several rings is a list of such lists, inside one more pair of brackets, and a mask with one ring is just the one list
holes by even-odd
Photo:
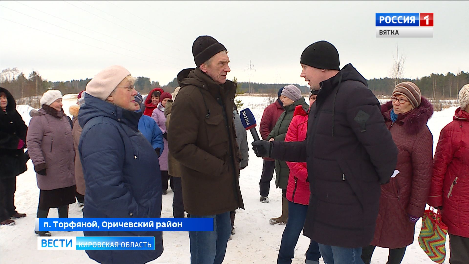
[[376, 13], [377, 38], [433, 38], [433, 13]]

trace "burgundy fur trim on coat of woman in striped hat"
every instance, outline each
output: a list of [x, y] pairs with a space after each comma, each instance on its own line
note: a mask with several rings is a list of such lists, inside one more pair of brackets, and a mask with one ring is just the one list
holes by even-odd
[[[381, 114], [383, 114], [386, 122], [392, 122], [390, 117], [391, 109], [393, 109], [393, 102], [388, 101], [381, 105]], [[422, 96], [422, 102], [416, 109], [410, 110], [408, 113], [399, 114], [396, 124], [404, 127], [404, 131], [410, 135], [415, 135], [427, 124], [428, 119], [433, 115], [433, 105], [428, 99]]]

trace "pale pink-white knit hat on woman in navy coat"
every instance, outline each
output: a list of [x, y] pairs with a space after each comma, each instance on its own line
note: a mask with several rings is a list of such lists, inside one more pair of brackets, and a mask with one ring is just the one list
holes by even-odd
[[86, 85], [86, 93], [101, 100], [106, 100], [116, 86], [128, 75], [130, 75], [130, 72], [122, 66], [107, 67], [98, 72]]

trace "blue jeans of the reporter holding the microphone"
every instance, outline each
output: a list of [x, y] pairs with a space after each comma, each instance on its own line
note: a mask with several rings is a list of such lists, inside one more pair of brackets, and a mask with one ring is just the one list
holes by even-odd
[[363, 264], [362, 248], [342, 248], [319, 244], [325, 264]]

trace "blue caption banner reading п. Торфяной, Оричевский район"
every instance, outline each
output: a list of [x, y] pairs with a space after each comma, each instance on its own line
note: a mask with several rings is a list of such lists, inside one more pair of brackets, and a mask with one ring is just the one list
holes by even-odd
[[36, 231], [213, 231], [213, 218], [36, 218]]

